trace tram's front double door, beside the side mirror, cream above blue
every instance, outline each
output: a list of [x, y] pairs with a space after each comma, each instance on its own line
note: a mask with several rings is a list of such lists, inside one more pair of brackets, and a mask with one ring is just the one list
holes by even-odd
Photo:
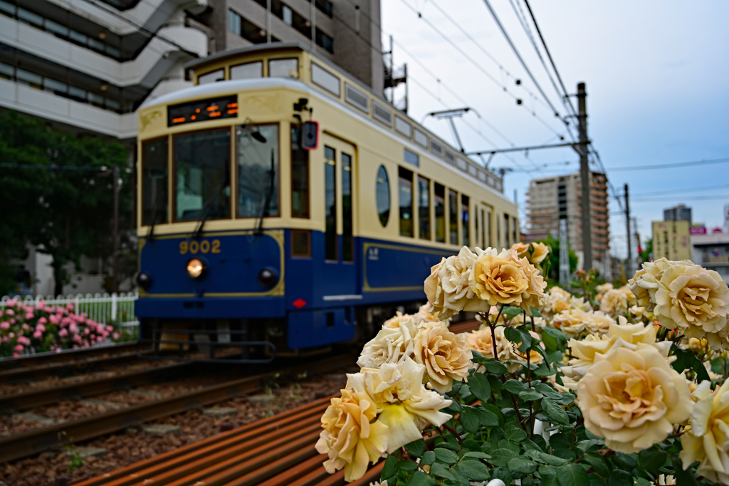
[[[349, 300], [360, 294], [354, 246], [356, 150], [322, 134], [324, 148], [324, 300]], [[356, 297], [354, 297], [356, 298]]]

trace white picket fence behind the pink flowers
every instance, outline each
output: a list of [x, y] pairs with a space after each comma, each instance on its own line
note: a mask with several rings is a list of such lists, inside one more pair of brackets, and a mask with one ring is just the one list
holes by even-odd
[[43, 297], [39, 295], [37, 297], [8, 297], [7, 295], [0, 299], [0, 309], [4, 309], [7, 306], [9, 299], [19, 299], [26, 305], [37, 304], [38, 302], [45, 302], [46, 305], [74, 305], [74, 313], [82, 314], [86, 313], [87, 318], [92, 319], [101, 324], [109, 324], [112, 321], [121, 321], [121, 325], [125, 327], [133, 327], [139, 325], [136, 315], [134, 315], [134, 302], [136, 302], [139, 294], [136, 292], [129, 292], [125, 294], [77, 294], [68, 295], [63, 297], [47, 296]]

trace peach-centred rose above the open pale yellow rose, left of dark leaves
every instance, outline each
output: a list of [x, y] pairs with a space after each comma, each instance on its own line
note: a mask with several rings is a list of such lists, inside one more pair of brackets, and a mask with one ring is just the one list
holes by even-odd
[[426, 378], [440, 393], [453, 388], [453, 380], [464, 381], [473, 366], [473, 355], [464, 334], [453, 334], [441, 322], [424, 322], [414, 340], [415, 361], [426, 367]]

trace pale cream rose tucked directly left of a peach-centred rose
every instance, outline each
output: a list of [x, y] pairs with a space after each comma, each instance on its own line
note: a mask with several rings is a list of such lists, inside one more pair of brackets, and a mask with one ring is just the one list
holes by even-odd
[[405, 356], [413, 356], [416, 326], [410, 316], [399, 317], [397, 327], [383, 327], [377, 335], [362, 348], [357, 359], [360, 368], [379, 368], [385, 363], [397, 363]]

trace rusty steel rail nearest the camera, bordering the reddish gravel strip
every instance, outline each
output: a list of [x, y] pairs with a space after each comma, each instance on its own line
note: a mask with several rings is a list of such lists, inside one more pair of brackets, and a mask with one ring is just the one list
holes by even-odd
[[66, 432], [68, 436], [74, 437], [74, 442], [83, 442], [94, 437], [123, 430], [129, 426], [136, 426], [149, 420], [156, 420], [190, 409], [199, 409], [217, 401], [260, 391], [265, 386], [265, 383], [273, 378], [276, 373], [279, 375], [288, 375], [300, 373], [303, 369], [326, 372], [351, 364], [354, 364], [354, 358], [352, 356], [327, 358], [308, 365], [299, 364], [289, 369], [278, 369], [275, 372], [272, 371], [262, 375], [232, 380], [200, 390], [180, 393], [179, 395], [165, 399], [148, 401], [124, 409], [111, 410], [99, 415], [93, 415], [92, 417], [56, 423], [52, 426], [36, 428], [12, 436], [0, 437], [0, 462], [24, 458], [53, 447], [60, 447], [64, 443], [59, 436], [62, 432]]

